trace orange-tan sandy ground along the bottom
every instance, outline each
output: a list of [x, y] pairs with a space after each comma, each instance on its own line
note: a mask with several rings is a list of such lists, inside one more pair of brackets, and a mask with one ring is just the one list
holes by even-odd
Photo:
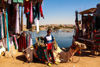
[[[89, 53], [88, 53], [89, 54]], [[79, 58], [79, 56], [77, 57]], [[46, 64], [41, 63], [26, 63], [24, 62], [22, 53], [18, 53], [16, 57], [7, 58], [0, 57], [0, 67], [48, 67]], [[59, 63], [58, 65], [52, 64], [51, 67], [100, 67], [100, 56], [81, 56], [78, 63]]]

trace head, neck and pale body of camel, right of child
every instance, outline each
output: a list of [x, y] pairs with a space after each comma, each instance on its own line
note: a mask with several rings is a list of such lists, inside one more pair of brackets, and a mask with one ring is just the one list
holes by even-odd
[[79, 43], [78, 41], [73, 42], [73, 45], [70, 47], [69, 51], [65, 52], [59, 48], [55, 41], [56, 50], [54, 50], [54, 57], [57, 62], [65, 63], [70, 60], [74, 54], [80, 49], [86, 49], [86, 45]]

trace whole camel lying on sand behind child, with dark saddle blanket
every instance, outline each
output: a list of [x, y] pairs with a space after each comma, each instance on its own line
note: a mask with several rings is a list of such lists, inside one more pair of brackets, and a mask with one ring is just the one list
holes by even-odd
[[[33, 48], [33, 49], [32, 49]], [[77, 41], [73, 42], [73, 45], [70, 47], [69, 51], [65, 52], [56, 43], [56, 40], [54, 41], [54, 58], [56, 62], [65, 63], [70, 60], [71, 57], [74, 56], [74, 54], [80, 50], [80, 49], [86, 49], [86, 45], [83, 43], [79, 43]], [[43, 37], [36, 38], [36, 44], [35, 47], [29, 47], [26, 50], [24, 50], [24, 54], [28, 61], [34, 60], [32, 56], [37, 58], [39, 61], [46, 61], [46, 52], [45, 52], [45, 45], [44, 45], [44, 39]]]

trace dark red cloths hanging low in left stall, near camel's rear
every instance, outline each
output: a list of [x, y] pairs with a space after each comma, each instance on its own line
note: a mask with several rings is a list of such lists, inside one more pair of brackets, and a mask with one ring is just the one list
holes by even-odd
[[22, 51], [23, 49], [26, 49], [26, 38], [24, 36], [21, 36], [18, 40], [18, 51]]

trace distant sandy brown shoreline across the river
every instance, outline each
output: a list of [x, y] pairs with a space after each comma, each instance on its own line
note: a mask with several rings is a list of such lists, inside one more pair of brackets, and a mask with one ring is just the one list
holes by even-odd
[[[48, 28], [51, 28], [53, 30], [60, 30], [60, 29], [74, 29], [75, 25], [73, 24], [49, 24], [49, 25], [40, 25], [39, 26], [40, 30], [47, 30]], [[24, 25], [23, 28], [24, 31], [28, 31], [26, 29], [26, 25]], [[32, 25], [32, 31], [36, 30], [36, 26]]]

